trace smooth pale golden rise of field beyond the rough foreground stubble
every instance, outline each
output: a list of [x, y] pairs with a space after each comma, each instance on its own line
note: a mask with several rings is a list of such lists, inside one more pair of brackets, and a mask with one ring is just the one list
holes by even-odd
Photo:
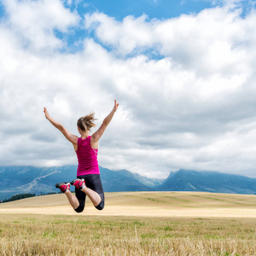
[[[255, 195], [189, 192], [106, 193], [106, 207], [86, 201], [79, 215], [193, 218], [256, 218]], [[0, 204], [1, 213], [78, 214], [65, 195], [44, 195]]]

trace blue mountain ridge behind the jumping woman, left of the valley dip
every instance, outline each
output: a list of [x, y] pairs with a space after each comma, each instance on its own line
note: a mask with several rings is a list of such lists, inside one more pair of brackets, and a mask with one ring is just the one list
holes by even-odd
[[[36, 195], [57, 193], [55, 183], [72, 181], [76, 177], [77, 166], [39, 168], [34, 166], [0, 166], [0, 200], [15, 194]], [[138, 174], [111, 171], [100, 166], [102, 185], [106, 192], [151, 191], [160, 179], [150, 179]], [[148, 185], [147, 185], [148, 184]], [[73, 186], [72, 186], [73, 189]]]

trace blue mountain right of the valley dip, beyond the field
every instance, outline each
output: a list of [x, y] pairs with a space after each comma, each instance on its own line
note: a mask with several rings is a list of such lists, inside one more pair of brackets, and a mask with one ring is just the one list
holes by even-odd
[[160, 191], [203, 191], [215, 193], [256, 194], [256, 179], [220, 172], [171, 172], [166, 181], [154, 187]]

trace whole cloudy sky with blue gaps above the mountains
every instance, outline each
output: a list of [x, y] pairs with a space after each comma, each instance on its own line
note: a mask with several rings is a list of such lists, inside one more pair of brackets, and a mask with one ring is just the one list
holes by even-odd
[[256, 11], [239, 0], [0, 0], [0, 166], [77, 165], [71, 143], [119, 102], [111, 170], [256, 177]]

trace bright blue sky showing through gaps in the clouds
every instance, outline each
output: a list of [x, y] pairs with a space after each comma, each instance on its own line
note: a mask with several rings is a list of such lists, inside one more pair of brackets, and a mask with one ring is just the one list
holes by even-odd
[[[22, 1], [21, 1], [22, 2]], [[215, 6], [223, 6], [222, 1], [212, 1], [212, 0], [139, 0], [139, 1], [83, 1], [83, 0], [65, 0], [61, 1], [63, 6], [70, 9], [73, 12], [78, 13], [80, 16], [80, 25], [70, 27], [69, 33], [63, 33], [59, 30], [55, 30], [55, 36], [65, 40], [67, 42], [68, 48], [64, 50], [77, 51], [80, 49], [81, 45], [78, 41], [83, 38], [93, 37], [93, 33], [84, 30], [83, 21], [84, 15], [93, 13], [103, 13], [115, 20], [123, 20], [126, 16], [133, 16], [138, 18], [142, 15], [147, 15], [147, 20], [166, 20], [179, 17], [180, 15], [196, 15], [204, 9], [210, 9]], [[232, 2], [232, 1], [230, 1]], [[241, 16], [247, 14], [247, 9], [251, 9], [254, 5], [254, 1], [233, 1], [237, 2], [237, 7], [241, 8]], [[6, 12], [3, 3], [0, 2], [0, 17], [4, 18]], [[102, 42], [97, 41], [101, 44]], [[104, 45], [107, 49], [108, 46]], [[156, 56], [156, 58], [161, 58], [162, 56]]]

